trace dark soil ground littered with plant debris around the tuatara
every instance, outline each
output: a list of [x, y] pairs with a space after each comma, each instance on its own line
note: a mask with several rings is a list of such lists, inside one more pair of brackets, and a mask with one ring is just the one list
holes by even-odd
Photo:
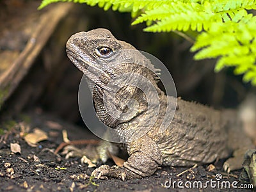
[[[163, 167], [159, 168], [154, 175], [144, 179], [125, 181], [112, 178], [90, 179], [90, 173], [94, 168], [88, 168], [87, 164], [81, 164], [78, 157], [65, 159], [65, 156], [55, 155], [53, 152], [62, 142], [62, 129], [67, 130], [70, 140], [94, 139], [92, 133], [88, 132], [86, 128], [44, 115], [38, 109], [33, 113], [23, 115], [22, 118], [23, 120], [17, 121], [20, 122], [19, 124], [12, 122], [12, 128], [9, 127], [9, 131], [4, 132], [1, 136], [0, 191], [170, 191], [170, 188], [173, 191], [190, 191], [191, 189], [186, 188], [185, 182], [191, 183], [192, 187], [194, 184], [193, 191], [244, 191], [244, 189], [236, 189], [231, 186], [232, 182], [237, 187], [241, 185], [238, 180], [241, 171], [227, 175], [221, 170], [221, 161], [215, 164], [216, 169], [211, 172], [207, 171], [209, 165], [200, 165], [189, 170], [188, 168]], [[36, 147], [31, 147], [24, 140], [24, 136], [27, 134], [24, 134], [24, 129], [32, 132], [35, 127], [45, 131], [48, 139], [40, 141]], [[21, 148], [20, 152], [16, 154], [11, 152], [11, 143], [18, 143]], [[114, 163], [109, 160], [107, 164], [113, 165]], [[184, 170], [188, 170], [188, 172], [184, 172]], [[179, 173], [182, 174], [177, 177]], [[216, 177], [220, 176], [218, 174], [222, 176], [219, 184], [216, 180]], [[211, 180], [212, 188], [210, 184], [207, 189], [196, 188], [195, 181], [200, 181], [204, 185]], [[225, 189], [220, 189], [223, 181], [229, 182], [230, 188], [225, 188], [222, 183]], [[183, 182], [180, 183], [180, 186], [184, 189], [179, 188], [177, 182]], [[247, 190], [249, 191], [249, 189]]]

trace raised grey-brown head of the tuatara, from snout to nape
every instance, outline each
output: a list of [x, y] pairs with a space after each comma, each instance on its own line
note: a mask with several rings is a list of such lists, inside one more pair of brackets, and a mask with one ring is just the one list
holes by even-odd
[[127, 77], [127, 84], [133, 81], [133, 74], [155, 76], [152, 71], [156, 69], [150, 60], [132, 45], [117, 40], [108, 29], [76, 33], [68, 39], [66, 47], [72, 63], [100, 88], [106, 89], [104, 85], [111, 79], [120, 81], [116, 77], [125, 74], [131, 76]]

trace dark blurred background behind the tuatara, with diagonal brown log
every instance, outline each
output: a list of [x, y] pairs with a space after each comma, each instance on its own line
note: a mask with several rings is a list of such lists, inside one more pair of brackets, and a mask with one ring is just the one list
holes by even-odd
[[[214, 60], [194, 61], [191, 43], [175, 33], [146, 33], [130, 13], [86, 4], [0, 1], [1, 120], [24, 111], [55, 115], [83, 125], [77, 104], [83, 74], [68, 60], [65, 44], [78, 31], [107, 28], [116, 38], [153, 54], [170, 70], [177, 95], [214, 108], [237, 108], [253, 92], [232, 68], [214, 73]], [[84, 126], [84, 125], [83, 125]]]

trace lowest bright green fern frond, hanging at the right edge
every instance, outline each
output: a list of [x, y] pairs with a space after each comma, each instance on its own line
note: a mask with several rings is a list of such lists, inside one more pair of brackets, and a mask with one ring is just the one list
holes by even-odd
[[[195, 59], [219, 58], [215, 71], [234, 66], [235, 74], [244, 74], [244, 81], [256, 83], [256, 16], [246, 15], [239, 22], [219, 23], [198, 35], [191, 51]], [[255, 76], [253, 76], [255, 74]], [[256, 85], [256, 84], [255, 84]]]

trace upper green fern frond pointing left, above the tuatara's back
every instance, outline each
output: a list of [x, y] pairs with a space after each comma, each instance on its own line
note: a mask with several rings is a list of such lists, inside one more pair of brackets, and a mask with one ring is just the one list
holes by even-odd
[[[154, 10], [146, 11], [132, 24], [138, 24], [147, 20], [158, 20], [156, 24], [149, 26], [145, 31], [187, 31], [191, 29], [200, 32], [202, 29], [208, 31], [213, 22], [228, 22], [230, 20], [237, 22], [247, 15], [246, 10], [237, 7], [237, 4], [233, 6], [235, 9], [220, 9], [220, 7], [217, 9], [216, 5], [218, 5], [218, 2], [215, 4], [210, 4], [208, 1], [205, 1], [204, 4], [184, 3], [181, 1], [172, 2]], [[223, 6], [223, 4], [221, 5]]]

